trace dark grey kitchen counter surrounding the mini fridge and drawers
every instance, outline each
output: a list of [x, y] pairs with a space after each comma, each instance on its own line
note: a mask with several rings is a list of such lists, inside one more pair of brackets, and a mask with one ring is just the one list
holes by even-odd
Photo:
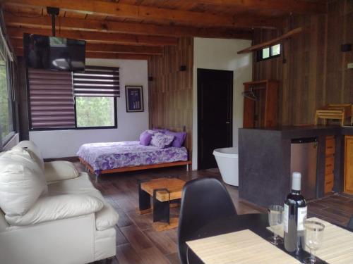
[[282, 204], [290, 191], [291, 140], [316, 137], [316, 198], [324, 196], [325, 138], [335, 137], [334, 191], [343, 190], [344, 136], [353, 127], [284, 126], [239, 129], [239, 197], [260, 206]]

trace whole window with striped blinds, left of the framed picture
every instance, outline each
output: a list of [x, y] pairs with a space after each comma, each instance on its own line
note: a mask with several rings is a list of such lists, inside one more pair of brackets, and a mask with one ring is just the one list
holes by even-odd
[[32, 130], [116, 127], [119, 68], [28, 69]]

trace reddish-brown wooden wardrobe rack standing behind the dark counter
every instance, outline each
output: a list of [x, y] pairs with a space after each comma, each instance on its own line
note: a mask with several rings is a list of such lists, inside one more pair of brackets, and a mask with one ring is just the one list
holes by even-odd
[[244, 128], [277, 125], [278, 86], [271, 80], [244, 83]]

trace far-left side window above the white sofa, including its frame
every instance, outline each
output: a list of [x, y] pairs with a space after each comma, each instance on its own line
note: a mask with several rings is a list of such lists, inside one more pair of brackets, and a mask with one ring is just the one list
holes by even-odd
[[5, 41], [1, 38], [0, 43], [0, 130], [2, 145], [14, 133], [12, 113], [12, 62], [6, 52]]

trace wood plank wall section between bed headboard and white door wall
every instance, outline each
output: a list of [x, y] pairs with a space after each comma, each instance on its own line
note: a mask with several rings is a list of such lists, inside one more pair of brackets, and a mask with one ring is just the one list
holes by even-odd
[[[185, 71], [180, 71], [186, 65]], [[148, 61], [150, 128], [183, 131], [191, 159], [193, 125], [193, 38], [179, 39], [177, 46], [166, 46], [162, 56]]]

